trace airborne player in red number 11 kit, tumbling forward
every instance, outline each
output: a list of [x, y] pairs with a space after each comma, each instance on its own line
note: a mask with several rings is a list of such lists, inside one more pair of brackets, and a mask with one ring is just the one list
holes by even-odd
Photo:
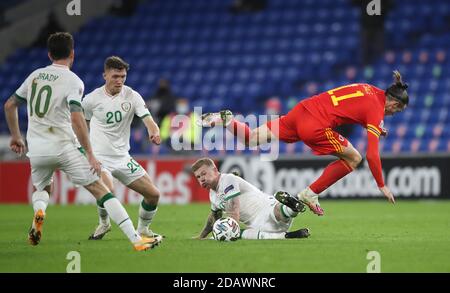
[[341, 86], [298, 103], [290, 112], [278, 119], [251, 130], [245, 123], [233, 119], [228, 110], [202, 115], [202, 125], [223, 125], [247, 146], [257, 146], [273, 139], [293, 143], [303, 141], [316, 155], [334, 155], [322, 175], [298, 198], [315, 214], [323, 215], [319, 194], [336, 181], [352, 172], [362, 160], [360, 153], [342, 135], [333, 130], [342, 124], [360, 124], [367, 129], [366, 159], [383, 195], [395, 203], [394, 195], [384, 184], [378, 142], [387, 131], [383, 128], [384, 116], [403, 111], [409, 101], [398, 71], [394, 83], [385, 91], [369, 84], [356, 83]]

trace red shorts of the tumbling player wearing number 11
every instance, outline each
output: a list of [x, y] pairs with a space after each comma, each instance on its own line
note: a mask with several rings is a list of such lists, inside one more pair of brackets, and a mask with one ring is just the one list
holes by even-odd
[[303, 141], [316, 155], [340, 154], [348, 146], [345, 137], [320, 125], [301, 103], [286, 115], [267, 122], [267, 127], [283, 142]]

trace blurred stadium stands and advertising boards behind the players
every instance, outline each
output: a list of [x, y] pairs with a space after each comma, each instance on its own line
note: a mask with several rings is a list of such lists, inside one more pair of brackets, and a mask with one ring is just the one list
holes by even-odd
[[[81, 15], [67, 14], [69, 2], [81, 4]], [[208, 195], [189, 173], [189, 165], [200, 156], [214, 157], [222, 171], [240, 170], [267, 193], [278, 189], [298, 192], [331, 158], [313, 157], [302, 143], [281, 143], [280, 159], [273, 162], [261, 160], [261, 150], [174, 151], [173, 115], [190, 115], [185, 121], [189, 123], [195, 119], [194, 107], [203, 112], [227, 108], [243, 115], [282, 114], [303, 98], [344, 84], [367, 82], [386, 88], [392, 71], [398, 69], [410, 86], [410, 106], [385, 119], [389, 135], [381, 140], [380, 152], [387, 185], [400, 202], [421, 199], [415, 203], [420, 210], [422, 205], [435, 203], [430, 199], [450, 197], [450, 3], [381, 1], [381, 16], [368, 16], [369, 2], [2, 1], [0, 110], [3, 113], [6, 99], [32, 70], [49, 64], [45, 39], [51, 32], [74, 34], [73, 71], [84, 81], [85, 93], [103, 84], [104, 59], [121, 56], [131, 64], [126, 84], [144, 97], [165, 138], [161, 146], [151, 145], [143, 124], [133, 123], [131, 153], [160, 188], [161, 211], [172, 205], [188, 209], [191, 203], [202, 203], [205, 212], [201, 217], [206, 218]], [[161, 86], [164, 83], [170, 90]], [[20, 108], [19, 117], [25, 133], [25, 107]], [[340, 131], [365, 153], [364, 129], [355, 126]], [[215, 137], [215, 142], [230, 139], [195, 127], [187, 127], [184, 134], [189, 146], [205, 137]], [[10, 152], [8, 143], [2, 114], [0, 203], [5, 209], [7, 204], [28, 203], [31, 195], [28, 161]], [[53, 203], [94, 202], [64, 174], [56, 174], [55, 184]], [[140, 200], [119, 184], [116, 195], [125, 203]], [[383, 200], [366, 164], [333, 186], [325, 197]], [[332, 205], [340, 201], [323, 202]], [[343, 202], [349, 206], [345, 213], [351, 213], [353, 203], [354, 209], [361, 204]], [[447, 207], [439, 224], [448, 228], [447, 204], [439, 201]], [[90, 211], [95, 215], [94, 209]], [[94, 225], [95, 217], [92, 219]], [[448, 265], [429, 270], [433, 268], [450, 270]]]

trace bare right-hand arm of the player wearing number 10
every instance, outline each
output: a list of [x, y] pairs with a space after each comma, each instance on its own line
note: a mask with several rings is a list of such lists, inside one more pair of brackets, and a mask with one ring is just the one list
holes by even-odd
[[91, 169], [100, 176], [101, 173], [101, 164], [94, 156], [92, 152], [91, 143], [89, 141], [89, 134], [86, 125], [86, 120], [84, 118], [83, 112], [71, 112], [70, 117], [72, 120], [72, 129], [75, 132], [75, 135], [78, 138], [81, 146], [84, 148], [86, 152], [87, 159], [89, 164], [91, 165]]

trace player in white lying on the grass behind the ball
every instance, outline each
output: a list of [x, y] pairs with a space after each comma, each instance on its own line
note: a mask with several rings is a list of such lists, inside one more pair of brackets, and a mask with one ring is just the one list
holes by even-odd
[[[211, 213], [198, 239], [204, 239], [212, 231], [214, 222], [225, 212], [237, 222], [246, 225], [241, 230], [242, 239], [306, 238], [309, 229], [287, 232], [292, 220], [305, 206], [295, 197], [279, 191], [275, 196], [261, 190], [234, 174], [219, 173], [210, 158], [201, 158], [192, 165], [198, 183], [209, 190]], [[280, 202], [289, 203], [282, 204]]]

